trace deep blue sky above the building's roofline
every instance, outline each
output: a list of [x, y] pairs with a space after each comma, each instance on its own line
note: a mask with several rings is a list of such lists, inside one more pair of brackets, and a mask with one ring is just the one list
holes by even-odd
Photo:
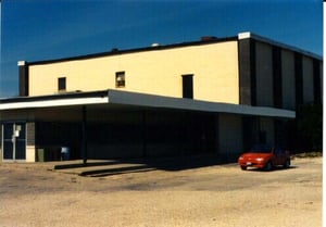
[[17, 61], [229, 37], [241, 31], [323, 54], [322, 0], [2, 0], [0, 97]]

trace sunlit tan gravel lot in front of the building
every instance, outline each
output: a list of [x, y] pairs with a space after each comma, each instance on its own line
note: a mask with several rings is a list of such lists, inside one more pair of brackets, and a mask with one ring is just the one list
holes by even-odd
[[322, 226], [323, 159], [100, 177], [0, 163], [0, 226]]

